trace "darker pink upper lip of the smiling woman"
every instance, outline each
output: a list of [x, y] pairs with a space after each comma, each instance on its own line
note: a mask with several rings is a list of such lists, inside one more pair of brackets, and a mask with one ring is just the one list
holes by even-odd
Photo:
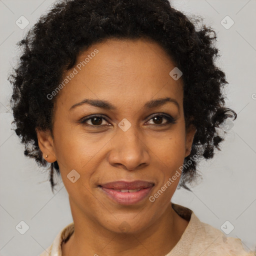
[[110, 189], [138, 189], [138, 188], [147, 188], [152, 187], [154, 185], [153, 182], [144, 181], [144, 180], [134, 180], [134, 181], [113, 181], [105, 184], [101, 184], [100, 186], [104, 188]]

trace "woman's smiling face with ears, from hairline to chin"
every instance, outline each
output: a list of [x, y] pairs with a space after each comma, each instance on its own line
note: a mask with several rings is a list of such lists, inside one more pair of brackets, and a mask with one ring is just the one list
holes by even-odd
[[155, 42], [108, 39], [64, 73], [53, 138], [37, 137], [46, 160], [58, 162], [74, 222], [138, 232], [164, 214], [195, 132], [185, 130], [174, 67]]

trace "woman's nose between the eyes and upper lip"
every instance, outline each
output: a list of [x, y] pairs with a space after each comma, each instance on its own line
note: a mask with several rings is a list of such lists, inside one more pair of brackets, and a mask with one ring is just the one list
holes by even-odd
[[146, 139], [131, 125], [126, 131], [117, 128], [111, 140], [111, 150], [108, 161], [115, 167], [121, 166], [127, 170], [135, 170], [149, 164], [149, 148]]

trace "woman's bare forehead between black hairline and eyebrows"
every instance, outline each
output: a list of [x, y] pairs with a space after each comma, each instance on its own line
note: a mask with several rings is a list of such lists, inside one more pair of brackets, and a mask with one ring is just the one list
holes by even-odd
[[171, 57], [156, 42], [107, 39], [77, 56], [74, 67], [63, 74], [62, 80], [72, 78], [59, 98], [69, 107], [85, 97], [143, 103], [153, 97], [171, 96], [182, 101], [182, 79], [169, 75], [174, 67]]

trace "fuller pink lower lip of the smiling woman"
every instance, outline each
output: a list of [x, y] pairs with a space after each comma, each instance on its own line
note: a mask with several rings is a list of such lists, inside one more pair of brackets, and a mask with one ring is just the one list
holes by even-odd
[[136, 192], [119, 192], [114, 189], [100, 187], [110, 198], [119, 204], [134, 204], [143, 200], [151, 190], [152, 187], [142, 188]]

